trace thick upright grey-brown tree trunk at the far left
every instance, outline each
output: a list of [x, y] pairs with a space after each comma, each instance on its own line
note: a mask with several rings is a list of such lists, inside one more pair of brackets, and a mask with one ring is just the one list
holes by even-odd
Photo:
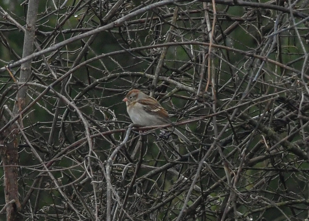
[[[23, 58], [33, 53], [33, 44], [35, 40], [36, 15], [39, 0], [30, 0], [28, 4], [26, 32], [23, 43]], [[27, 82], [31, 75], [31, 60], [23, 63], [20, 70], [19, 83]], [[28, 86], [22, 85], [18, 88], [15, 105], [13, 107], [13, 117], [19, 115], [20, 125], [22, 124], [22, 115], [20, 111], [26, 106]], [[18, 194], [18, 144], [19, 129], [16, 124], [11, 126], [1, 134], [1, 159], [4, 170], [4, 192], [6, 201], [6, 220], [19, 220], [18, 211], [20, 210]], [[10, 203], [11, 202], [11, 203]]]

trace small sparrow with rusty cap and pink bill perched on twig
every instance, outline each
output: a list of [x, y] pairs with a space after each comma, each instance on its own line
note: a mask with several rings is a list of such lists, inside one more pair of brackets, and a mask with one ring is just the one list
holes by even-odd
[[[171, 124], [167, 111], [159, 102], [140, 90], [129, 91], [122, 101], [126, 103], [127, 112], [134, 124], [141, 126]], [[191, 141], [176, 128], [174, 128], [173, 133], [187, 144], [191, 144]]]

